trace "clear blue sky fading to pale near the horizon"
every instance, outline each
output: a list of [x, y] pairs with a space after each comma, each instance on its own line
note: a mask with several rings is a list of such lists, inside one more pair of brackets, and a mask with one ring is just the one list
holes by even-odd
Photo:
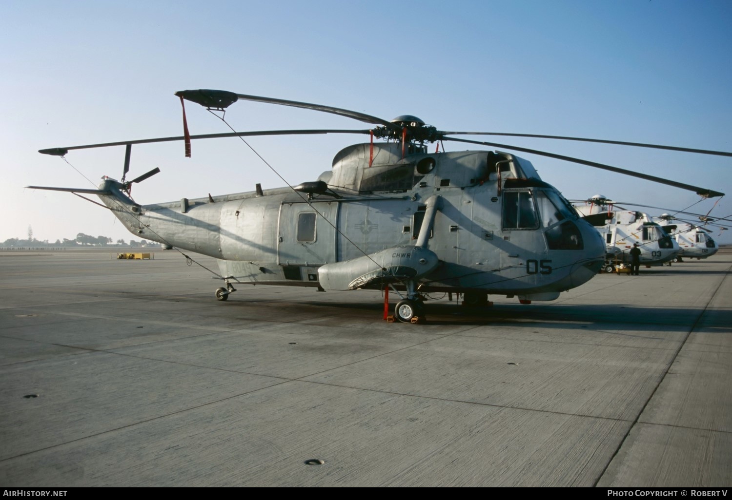
[[[600, 137], [732, 151], [732, 1], [29, 1], [0, 17], [0, 241], [135, 238], [111, 213], [28, 184], [91, 187], [40, 148], [182, 132], [186, 88], [220, 88], [417, 115], [438, 129]], [[193, 134], [226, 132], [189, 105]], [[239, 130], [362, 128], [335, 115], [239, 102]], [[290, 183], [313, 181], [360, 136], [250, 140]], [[489, 139], [490, 140], [490, 139]], [[496, 139], [732, 191], [732, 160], [548, 140]], [[449, 148], [460, 149], [453, 143]], [[526, 156], [568, 198], [684, 208], [681, 189]], [[124, 148], [76, 151], [97, 183]], [[138, 202], [281, 186], [238, 140], [136, 146]], [[731, 193], [732, 196], [732, 193]], [[730, 197], [713, 214], [732, 213]], [[695, 211], [712, 207], [709, 200]], [[649, 211], [653, 213], [654, 211]], [[732, 226], [731, 226], [732, 227]], [[729, 231], [732, 232], [732, 231]], [[718, 231], [714, 235], [719, 234]], [[732, 235], [718, 240], [730, 242]]]

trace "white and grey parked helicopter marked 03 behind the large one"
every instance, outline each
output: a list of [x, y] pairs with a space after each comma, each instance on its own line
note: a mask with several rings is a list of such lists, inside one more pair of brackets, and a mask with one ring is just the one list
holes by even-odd
[[626, 210], [602, 194], [595, 194], [585, 205], [574, 200], [580, 215], [592, 224], [607, 246], [605, 272], [630, 267], [630, 249], [638, 243], [641, 249], [641, 264], [662, 265], [670, 262], [681, 252], [679, 243], [671, 238], [663, 227], [654, 222], [647, 213]]

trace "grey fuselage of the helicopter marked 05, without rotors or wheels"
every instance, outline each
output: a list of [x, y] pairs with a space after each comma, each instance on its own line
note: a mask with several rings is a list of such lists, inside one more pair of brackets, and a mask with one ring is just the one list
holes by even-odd
[[[600, 236], [530, 162], [410, 148], [404, 156], [397, 143], [345, 148], [319, 178], [327, 191], [137, 205], [108, 179], [100, 189], [111, 194], [100, 197], [133, 234], [215, 257], [220, 273], [239, 283], [378, 288], [381, 270], [402, 268], [414, 271], [420, 291], [553, 300], [602, 267]], [[429, 236], [419, 239], [420, 231]], [[438, 265], [420, 271], [408, 263], [419, 251]]]

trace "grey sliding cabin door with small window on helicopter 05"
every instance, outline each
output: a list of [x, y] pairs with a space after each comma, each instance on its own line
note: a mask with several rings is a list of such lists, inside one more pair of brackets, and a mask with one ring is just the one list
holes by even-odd
[[[335, 262], [338, 205], [332, 200], [280, 205], [277, 263], [286, 279], [308, 281], [318, 266]], [[317, 271], [315, 276], [310, 281], [317, 281]]]

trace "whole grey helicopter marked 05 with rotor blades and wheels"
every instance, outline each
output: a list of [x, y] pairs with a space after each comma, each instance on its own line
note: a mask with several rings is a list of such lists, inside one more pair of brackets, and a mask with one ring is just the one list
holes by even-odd
[[[392, 121], [344, 110], [228, 91], [187, 90], [181, 103], [195, 102], [222, 112], [239, 100], [300, 107], [354, 118], [368, 129], [310, 129], [184, 135], [117, 143], [43, 149], [64, 156], [83, 148], [125, 146], [122, 180], [102, 177], [98, 189], [29, 186], [96, 194], [127, 230], [165, 247], [215, 257], [223, 287], [275, 284], [321, 290], [388, 289], [400, 295], [394, 316], [425, 319], [423, 300], [433, 292], [462, 294], [464, 303], [488, 303], [488, 295], [554, 300], [600, 271], [605, 241], [526, 159], [504, 151], [427, 151], [445, 141], [490, 146], [563, 159], [616, 173], [690, 189], [703, 197], [722, 193], [668, 181], [606, 164], [546, 151], [454, 137], [507, 135], [584, 140], [646, 148], [732, 156], [731, 153], [674, 146], [621, 143], [578, 137], [498, 132], [447, 132], [412, 115]], [[339, 151], [332, 168], [316, 180], [280, 189], [226, 194], [141, 205], [127, 181], [132, 145], [190, 140], [297, 134], [362, 134], [370, 141]], [[242, 139], [243, 140], [243, 139]], [[376, 141], [375, 141], [376, 140]], [[386, 142], [379, 142], [385, 140]], [[312, 179], [312, 178], [311, 178]]]

